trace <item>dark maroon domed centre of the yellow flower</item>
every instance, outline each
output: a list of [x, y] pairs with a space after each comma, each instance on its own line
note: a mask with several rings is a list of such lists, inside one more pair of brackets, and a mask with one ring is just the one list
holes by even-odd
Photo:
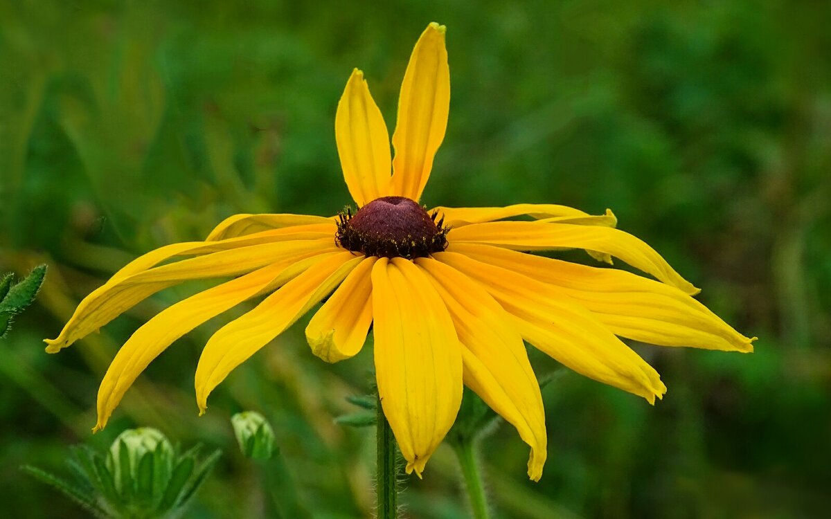
[[416, 257], [430, 256], [447, 247], [444, 218], [438, 222], [438, 211], [427, 210], [406, 197], [381, 197], [372, 200], [352, 215], [347, 208], [339, 214], [337, 242], [350, 251], [366, 256]]

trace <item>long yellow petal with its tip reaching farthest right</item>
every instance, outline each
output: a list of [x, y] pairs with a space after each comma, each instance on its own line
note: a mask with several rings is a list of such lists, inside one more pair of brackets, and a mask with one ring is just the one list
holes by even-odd
[[459, 243], [447, 250], [556, 286], [592, 311], [615, 335], [655, 345], [753, 351], [755, 338], [741, 335], [674, 286], [631, 272], [586, 267], [500, 247]]

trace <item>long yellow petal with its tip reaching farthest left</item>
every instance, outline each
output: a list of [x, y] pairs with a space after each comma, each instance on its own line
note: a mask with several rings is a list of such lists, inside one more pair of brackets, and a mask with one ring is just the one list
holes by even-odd
[[[234, 238], [239, 241], [243, 238]], [[189, 247], [165, 247], [167, 252], [193, 253], [200, 248], [211, 250], [215, 245], [227, 246], [223, 242], [198, 242]], [[184, 244], [177, 244], [184, 245]], [[219, 247], [220, 249], [222, 247]], [[226, 250], [193, 257], [161, 267], [139, 269], [136, 262], [130, 263], [116, 273], [110, 281], [92, 291], [76, 308], [56, 339], [47, 339], [47, 352], [56, 353], [78, 339], [98, 330], [140, 301], [157, 291], [190, 279], [232, 276], [249, 272], [272, 262], [295, 262], [303, 257], [327, 250], [336, 250], [328, 238], [317, 240], [293, 240], [288, 242], [265, 242], [248, 247], [226, 247]], [[165, 252], [165, 253], [167, 253]], [[143, 266], [150, 262], [145, 261]], [[127, 271], [138, 271], [125, 274]]]

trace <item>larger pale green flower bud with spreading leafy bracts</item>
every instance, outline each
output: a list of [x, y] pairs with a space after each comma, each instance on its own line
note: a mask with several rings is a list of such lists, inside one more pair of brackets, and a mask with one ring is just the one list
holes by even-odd
[[208, 477], [219, 451], [200, 459], [199, 445], [178, 455], [153, 428], [128, 429], [106, 454], [81, 445], [67, 460], [71, 480], [40, 468], [22, 470], [100, 519], [174, 519]]

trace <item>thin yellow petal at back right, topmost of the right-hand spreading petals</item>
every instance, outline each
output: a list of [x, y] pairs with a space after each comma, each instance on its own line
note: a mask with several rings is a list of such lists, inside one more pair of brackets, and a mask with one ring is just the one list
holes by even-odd
[[439, 216], [445, 217], [445, 223], [450, 227], [463, 227], [470, 223], [493, 222], [504, 218], [514, 218], [528, 215], [531, 218], [558, 218], [563, 223], [581, 223], [588, 225], [604, 225], [615, 227], [617, 218], [610, 209], [602, 216], [592, 216], [588, 213], [565, 205], [553, 203], [515, 203], [504, 208], [445, 208], [437, 207], [430, 210], [438, 211]]

